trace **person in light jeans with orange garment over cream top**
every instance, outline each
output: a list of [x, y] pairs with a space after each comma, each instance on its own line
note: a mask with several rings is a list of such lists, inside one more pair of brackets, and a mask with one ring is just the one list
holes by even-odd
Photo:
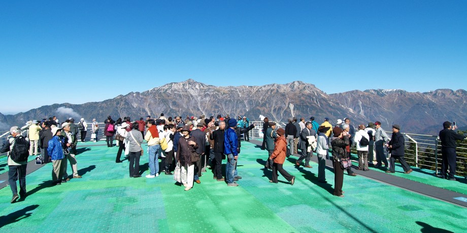
[[148, 142], [149, 157], [149, 174], [146, 175], [146, 178], [154, 178], [159, 176], [160, 153], [159, 131], [157, 130], [156, 122], [154, 119], [148, 121], [148, 132], [146, 133], [144, 140]]

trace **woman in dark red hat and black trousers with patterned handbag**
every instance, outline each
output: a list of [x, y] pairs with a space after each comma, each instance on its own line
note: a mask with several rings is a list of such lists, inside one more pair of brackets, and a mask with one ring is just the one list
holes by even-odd
[[345, 147], [349, 145], [349, 135], [343, 135], [342, 129], [334, 127], [332, 129], [334, 137], [331, 139], [332, 146], [332, 166], [334, 167], [334, 196], [343, 198], [344, 191], [342, 185], [344, 183], [344, 169], [341, 167], [341, 159], [348, 158]]

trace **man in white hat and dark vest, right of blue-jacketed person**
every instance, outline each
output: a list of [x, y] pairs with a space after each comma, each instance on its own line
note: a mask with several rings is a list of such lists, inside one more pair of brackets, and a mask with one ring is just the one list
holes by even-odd
[[[66, 173], [66, 167], [67, 165], [67, 160], [70, 161], [70, 166], [72, 167], [73, 170], [73, 178], [81, 178], [80, 175], [78, 175], [78, 162], [76, 161], [75, 157], [75, 151], [76, 151], [76, 135], [73, 134], [73, 132], [70, 131], [70, 123], [63, 123], [61, 125], [62, 131], [61, 135], [65, 137], [65, 146], [63, 146], [63, 149], [68, 149], [70, 152], [69, 154], [64, 154], [66, 157], [66, 160], [63, 160], [62, 163], [64, 163], [64, 171], [63, 171], [63, 180], [62, 182], [69, 181], [70, 178], [68, 177], [68, 173]], [[66, 153], [66, 152], [65, 152]]]

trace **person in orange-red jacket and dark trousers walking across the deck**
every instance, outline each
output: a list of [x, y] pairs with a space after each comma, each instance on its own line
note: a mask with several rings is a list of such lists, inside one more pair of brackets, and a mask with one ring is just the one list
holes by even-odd
[[274, 144], [276, 146], [274, 147], [274, 152], [271, 154], [269, 157], [270, 160], [274, 161], [272, 169], [273, 169], [273, 177], [269, 181], [271, 183], [277, 183], [277, 172], [279, 171], [281, 175], [287, 180], [290, 181], [290, 184], [293, 185], [295, 182], [295, 176], [291, 176], [288, 172], [286, 172], [283, 168], [282, 165], [284, 164], [285, 157], [286, 157], [286, 151], [287, 151], [287, 143], [285, 141], [285, 130], [280, 128], [277, 130], [277, 135], [278, 137], [276, 138]]

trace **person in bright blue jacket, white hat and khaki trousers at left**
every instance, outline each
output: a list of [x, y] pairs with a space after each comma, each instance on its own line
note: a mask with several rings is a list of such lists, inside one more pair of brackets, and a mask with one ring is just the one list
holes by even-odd
[[[61, 128], [53, 127], [51, 131], [53, 137], [49, 141], [47, 152], [52, 159], [52, 185], [59, 185], [62, 182], [63, 171], [66, 166], [65, 163], [62, 163], [62, 160], [65, 158], [63, 155], [63, 143], [65, 140], [61, 136]], [[70, 143], [66, 146], [70, 146]]]

